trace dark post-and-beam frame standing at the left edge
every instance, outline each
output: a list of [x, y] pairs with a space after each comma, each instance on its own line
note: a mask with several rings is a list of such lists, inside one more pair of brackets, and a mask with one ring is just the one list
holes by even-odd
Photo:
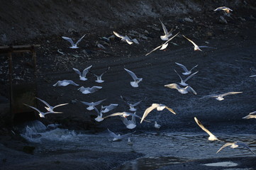
[[0, 54], [8, 53], [9, 58], [9, 100], [10, 100], [10, 112], [11, 121], [13, 121], [13, 64], [12, 64], [12, 53], [23, 53], [31, 52], [33, 60], [34, 77], [36, 78], [36, 55], [35, 47], [40, 47], [40, 45], [13, 45], [13, 46], [0, 46]]

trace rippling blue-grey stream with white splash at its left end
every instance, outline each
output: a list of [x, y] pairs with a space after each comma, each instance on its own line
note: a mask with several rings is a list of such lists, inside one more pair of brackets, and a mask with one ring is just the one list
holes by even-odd
[[[23, 128], [21, 135], [35, 146], [34, 154], [58, 154], [90, 150], [97, 152], [138, 152], [145, 157], [123, 165], [123, 169], [156, 169], [167, 164], [176, 164], [186, 160], [218, 157], [251, 157], [246, 148], [226, 147], [216, 154], [224, 142], [208, 141], [205, 133], [184, 132], [135, 132], [130, 135], [133, 145], [125, 138], [111, 141], [107, 130], [98, 134], [75, 132], [57, 128], [57, 125], [45, 127], [43, 123], [32, 123]], [[120, 132], [121, 133], [121, 132]], [[123, 134], [122, 134], [123, 135]], [[234, 139], [245, 142], [256, 150], [255, 135], [215, 134], [232, 142]], [[135, 168], [133, 168], [135, 167]]]

